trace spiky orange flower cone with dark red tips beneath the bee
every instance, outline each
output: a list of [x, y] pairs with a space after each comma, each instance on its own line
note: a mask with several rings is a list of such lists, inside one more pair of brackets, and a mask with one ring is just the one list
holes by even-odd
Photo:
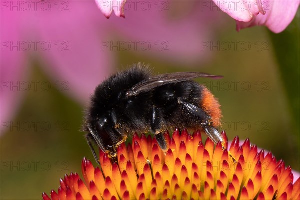
[[[222, 132], [227, 148], [227, 137]], [[258, 152], [249, 139], [240, 145], [236, 136], [227, 149], [199, 131], [189, 135], [165, 133], [166, 154], [155, 138], [133, 136], [132, 145], [118, 147], [117, 163], [100, 152], [100, 166], [83, 158], [83, 180], [77, 173], [60, 179], [54, 199], [299, 199], [300, 178], [293, 183], [291, 168], [272, 154]], [[51, 199], [46, 193], [44, 200]]]

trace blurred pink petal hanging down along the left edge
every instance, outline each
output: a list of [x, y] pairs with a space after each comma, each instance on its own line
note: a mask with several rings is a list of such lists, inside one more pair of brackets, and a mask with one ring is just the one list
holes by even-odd
[[[7, 1], [9, 4], [9, 2]], [[8, 6], [8, 5], [7, 5]], [[28, 89], [28, 82], [24, 82], [25, 60], [24, 48], [22, 48], [21, 35], [17, 21], [19, 12], [13, 13], [5, 2], [1, 2], [0, 12], [0, 119], [2, 134], [8, 130], [12, 118], [20, 105], [22, 94]], [[25, 44], [24, 44], [25, 45]], [[25, 84], [25, 85], [24, 85]]]

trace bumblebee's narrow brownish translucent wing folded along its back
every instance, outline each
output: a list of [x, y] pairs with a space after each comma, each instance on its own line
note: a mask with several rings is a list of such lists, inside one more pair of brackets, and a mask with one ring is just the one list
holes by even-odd
[[136, 96], [141, 92], [150, 91], [151, 89], [156, 87], [160, 87], [171, 83], [183, 82], [198, 77], [219, 79], [222, 78], [223, 76], [211, 75], [208, 73], [200, 73], [200, 72], [165, 73], [161, 75], [152, 76], [149, 79], [134, 85], [129, 91], [127, 91], [126, 95]]

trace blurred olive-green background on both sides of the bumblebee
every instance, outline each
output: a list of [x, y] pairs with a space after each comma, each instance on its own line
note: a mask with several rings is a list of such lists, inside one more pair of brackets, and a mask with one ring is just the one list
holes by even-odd
[[[111, 71], [141, 61], [150, 63], [155, 73], [201, 71], [223, 75], [221, 80], [196, 81], [205, 84], [219, 99], [228, 139], [232, 140], [236, 135], [241, 140], [250, 138], [252, 144], [272, 151], [277, 160], [283, 159], [286, 165], [300, 171], [299, 120], [296, 106], [290, 104], [290, 94], [299, 95], [299, 76], [287, 74], [297, 81], [289, 84], [287, 90], [284, 80], [288, 78], [283, 79], [282, 75], [288, 67], [299, 71], [298, 17], [280, 35], [270, 33], [266, 27], [247, 28], [239, 33], [234, 29], [234, 20], [228, 17], [227, 23], [227, 28], [213, 41], [223, 42], [223, 47], [213, 48], [213, 58], [204, 65], [174, 65], [167, 60], [120, 51], [116, 56], [116, 68]], [[291, 41], [291, 45], [296, 46], [292, 52], [295, 55], [287, 52], [284, 43], [273, 42], [276, 37]], [[230, 42], [231, 47], [227, 50], [227, 41], [246, 41], [250, 47], [245, 44], [242, 48], [238, 44], [235, 50]], [[284, 58], [278, 57], [278, 52], [286, 55], [288, 66], [282, 65]], [[27, 80], [51, 82], [38, 62], [34, 63]], [[57, 91], [55, 82], [51, 83], [50, 91], [26, 92], [13, 119], [24, 126], [25, 121], [47, 123], [39, 123], [36, 129], [31, 127], [28, 131], [25, 127], [13, 127], [0, 139], [1, 199], [40, 199], [43, 191], [47, 194], [51, 189], [57, 191], [59, 178], [64, 174], [78, 172], [81, 176], [83, 156], [95, 164], [84, 133], [79, 131], [85, 105], [71, 99], [67, 91]]]

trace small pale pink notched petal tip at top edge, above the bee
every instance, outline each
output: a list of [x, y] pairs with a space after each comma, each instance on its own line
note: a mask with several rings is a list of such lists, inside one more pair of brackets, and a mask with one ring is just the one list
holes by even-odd
[[103, 12], [106, 18], [109, 18], [112, 11], [116, 16], [125, 18], [124, 15], [124, 3], [126, 0], [95, 0], [99, 9]]

